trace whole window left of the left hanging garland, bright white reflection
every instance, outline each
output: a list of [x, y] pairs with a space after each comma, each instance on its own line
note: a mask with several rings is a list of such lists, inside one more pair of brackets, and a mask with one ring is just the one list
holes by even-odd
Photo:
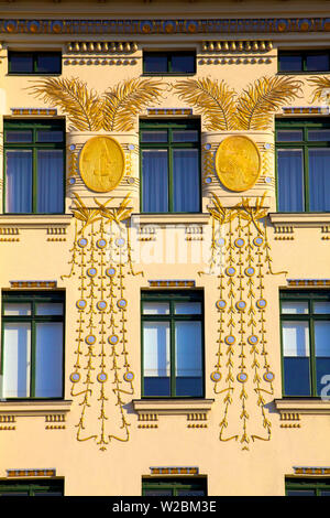
[[64, 295], [2, 294], [3, 399], [63, 397]]

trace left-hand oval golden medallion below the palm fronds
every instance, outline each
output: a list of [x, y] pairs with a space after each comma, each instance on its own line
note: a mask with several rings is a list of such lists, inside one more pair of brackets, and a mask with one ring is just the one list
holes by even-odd
[[92, 137], [81, 150], [79, 169], [88, 188], [97, 193], [112, 191], [124, 174], [124, 152], [111, 137]]

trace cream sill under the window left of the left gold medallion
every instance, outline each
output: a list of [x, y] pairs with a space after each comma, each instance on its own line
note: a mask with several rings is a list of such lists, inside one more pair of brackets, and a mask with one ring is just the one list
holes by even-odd
[[0, 228], [48, 228], [53, 225], [65, 228], [72, 218], [72, 214], [1, 214]]

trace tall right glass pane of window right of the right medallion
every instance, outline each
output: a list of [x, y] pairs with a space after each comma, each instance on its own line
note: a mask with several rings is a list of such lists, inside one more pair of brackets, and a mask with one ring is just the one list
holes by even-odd
[[309, 150], [309, 209], [330, 211], [330, 149]]

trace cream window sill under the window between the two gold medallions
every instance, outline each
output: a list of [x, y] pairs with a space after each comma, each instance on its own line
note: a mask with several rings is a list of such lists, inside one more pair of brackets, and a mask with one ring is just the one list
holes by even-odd
[[133, 225], [207, 225], [209, 213], [141, 213], [132, 214]]

